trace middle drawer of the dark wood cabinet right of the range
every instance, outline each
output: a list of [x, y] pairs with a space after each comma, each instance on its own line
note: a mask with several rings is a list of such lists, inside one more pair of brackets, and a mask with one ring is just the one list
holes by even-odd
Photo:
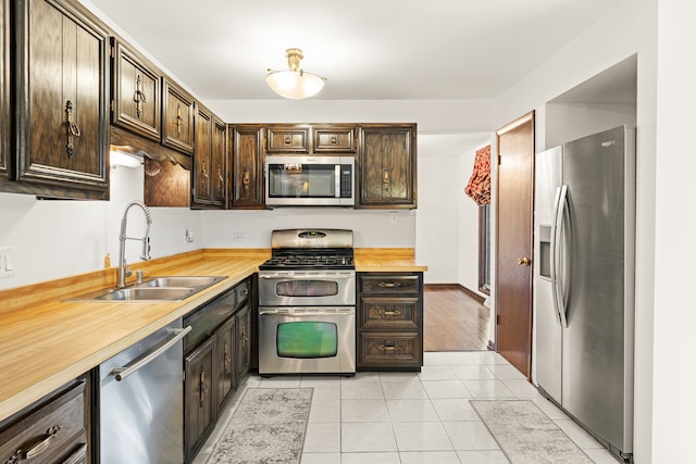
[[418, 297], [363, 297], [360, 299], [360, 328], [418, 331], [419, 301]]

